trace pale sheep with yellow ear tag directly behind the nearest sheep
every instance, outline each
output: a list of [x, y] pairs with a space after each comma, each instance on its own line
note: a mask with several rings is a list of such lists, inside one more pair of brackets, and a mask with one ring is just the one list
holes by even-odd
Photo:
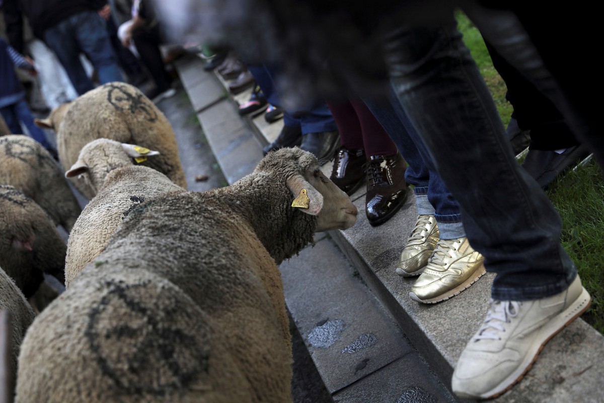
[[85, 176], [96, 196], [86, 205], [67, 242], [65, 286], [69, 287], [82, 269], [92, 262], [109, 242], [118, 224], [133, 207], [165, 192], [185, 192], [163, 173], [135, 166], [131, 158], [152, 156], [132, 144], [100, 138], [86, 144], [76, 163], [65, 176]]

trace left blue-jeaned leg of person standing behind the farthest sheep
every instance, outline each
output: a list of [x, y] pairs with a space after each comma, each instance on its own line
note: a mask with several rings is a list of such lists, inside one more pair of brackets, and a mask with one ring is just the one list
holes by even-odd
[[56, 54], [77, 93], [82, 95], [93, 89], [94, 85], [80, 62], [80, 47], [70, 20], [48, 29], [44, 33], [44, 42]]

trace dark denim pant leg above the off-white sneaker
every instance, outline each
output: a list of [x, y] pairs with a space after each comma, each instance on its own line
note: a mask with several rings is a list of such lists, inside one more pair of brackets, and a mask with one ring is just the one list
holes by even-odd
[[560, 244], [561, 219], [515, 160], [454, 22], [393, 30], [385, 52], [397, 97], [460, 204], [467, 237], [497, 273], [492, 297], [533, 300], [568, 288], [576, 268]]

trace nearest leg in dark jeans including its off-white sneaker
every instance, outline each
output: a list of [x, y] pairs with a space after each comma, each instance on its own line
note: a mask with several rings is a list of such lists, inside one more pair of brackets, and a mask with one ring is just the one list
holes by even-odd
[[454, 25], [394, 30], [385, 49], [397, 97], [459, 202], [472, 246], [497, 273], [490, 310], [458, 360], [452, 388], [460, 396], [497, 396], [585, 311], [589, 295], [561, 246], [561, 219], [516, 162]]

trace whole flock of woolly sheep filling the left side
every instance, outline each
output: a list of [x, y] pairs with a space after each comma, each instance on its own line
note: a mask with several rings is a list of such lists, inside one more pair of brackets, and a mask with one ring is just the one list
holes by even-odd
[[[8, 398], [291, 401], [277, 265], [357, 213], [316, 158], [281, 149], [233, 185], [188, 192], [169, 121], [124, 83], [38, 123], [54, 129], [66, 172], [30, 138], [0, 137]], [[65, 291], [36, 306], [48, 276]]]

